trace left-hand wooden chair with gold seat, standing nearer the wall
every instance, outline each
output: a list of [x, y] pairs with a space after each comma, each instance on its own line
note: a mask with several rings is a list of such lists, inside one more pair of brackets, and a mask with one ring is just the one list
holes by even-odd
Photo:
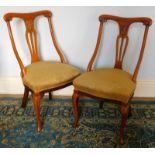
[[[61, 59], [58, 61], [43, 61], [38, 55], [37, 32], [35, 29], [35, 19], [38, 16], [44, 16], [48, 19], [49, 29], [53, 40], [54, 47]], [[72, 84], [72, 80], [80, 74], [80, 70], [65, 63], [65, 58], [61, 53], [53, 31], [52, 13], [47, 10], [32, 12], [32, 13], [7, 13], [4, 20], [7, 23], [14, 54], [17, 58], [21, 69], [21, 76], [25, 87], [25, 92], [22, 100], [22, 107], [26, 107], [29, 92], [32, 93], [34, 109], [37, 119], [37, 131], [41, 131], [41, 115], [40, 115], [40, 100], [44, 93], [49, 93], [49, 99], [52, 98], [51, 91], [64, 88]], [[31, 64], [24, 66], [13, 37], [11, 23], [13, 18], [24, 20], [26, 32], [25, 37], [31, 55]]]

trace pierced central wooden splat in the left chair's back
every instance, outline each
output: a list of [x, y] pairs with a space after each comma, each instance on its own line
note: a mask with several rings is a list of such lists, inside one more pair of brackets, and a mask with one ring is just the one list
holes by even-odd
[[25, 36], [31, 54], [31, 61], [36, 62], [39, 60], [39, 56], [34, 19], [25, 20], [24, 22], [26, 26]]

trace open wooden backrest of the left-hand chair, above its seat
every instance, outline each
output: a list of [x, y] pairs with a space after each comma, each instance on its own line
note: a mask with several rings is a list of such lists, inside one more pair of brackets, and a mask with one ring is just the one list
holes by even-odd
[[7, 26], [8, 26], [8, 31], [9, 31], [12, 47], [13, 47], [15, 56], [17, 58], [17, 61], [20, 65], [20, 68], [22, 71], [22, 77], [25, 75], [26, 71], [25, 71], [25, 67], [22, 63], [22, 60], [19, 57], [16, 45], [15, 45], [10, 21], [13, 18], [20, 18], [20, 19], [24, 20], [25, 27], [26, 27], [25, 37], [26, 37], [26, 41], [28, 44], [30, 54], [31, 54], [31, 63], [33, 63], [33, 62], [39, 61], [37, 34], [36, 34], [36, 30], [35, 30], [35, 19], [38, 16], [44, 16], [48, 19], [50, 33], [51, 33], [51, 37], [53, 40], [54, 47], [55, 47], [55, 49], [56, 49], [56, 51], [57, 51], [57, 53], [61, 59], [61, 62], [65, 62], [64, 56], [61, 53], [61, 51], [57, 45], [55, 36], [54, 36], [52, 20], [51, 20], [52, 13], [50, 11], [43, 10], [43, 11], [32, 12], [32, 13], [7, 13], [4, 15], [4, 20], [6, 21]]

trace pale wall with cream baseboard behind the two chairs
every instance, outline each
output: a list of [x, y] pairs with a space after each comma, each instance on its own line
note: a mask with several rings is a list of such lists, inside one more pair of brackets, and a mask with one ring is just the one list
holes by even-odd
[[[0, 7], [0, 93], [20, 93], [22, 90], [22, 84], [18, 83], [20, 69], [13, 54], [3, 15], [7, 12], [31, 12], [42, 9], [49, 9], [53, 12], [52, 20], [56, 38], [68, 62], [81, 68], [83, 71], [86, 69], [88, 61], [94, 51], [99, 27], [99, 15], [113, 14], [125, 17], [147, 16], [155, 21], [155, 7]], [[27, 65], [30, 62], [30, 55], [24, 39], [24, 23], [20, 20], [15, 20], [13, 24], [13, 32], [18, 51], [24, 60], [24, 64]], [[42, 58], [46, 60], [58, 59], [51, 44], [46, 19], [39, 18], [37, 20], [37, 26], [38, 32], [41, 32], [38, 37]], [[139, 27], [141, 27], [140, 31], [137, 31]], [[137, 60], [143, 35], [142, 30], [143, 27], [141, 25], [134, 24], [129, 32], [131, 38], [124, 63], [124, 67], [129, 72], [133, 72]], [[117, 33], [118, 27], [115, 23], [111, 22], [109, 27], [107, 24], [105, 25], [100, 57], [95, 66], [113, 66], [115, 56], [115, 39], [113, 38], [116, 37]], [[147, 81], [149, 85], [151, 81], [152, 84], [155, 83], [154, 50], [155, 25], [153, 24], [150, 28], [144, 59], [138, 75], [138, 81], [140, 81], [140, 83], [145, 82], [146, 84]], [[16, 79], [16, 82], [14, 80], [11, 82], [11, 79]], [[21, 89], [18, 88], [17, 91], [17, 87], [21, 87]], [[139, 91], [143, 91], [141, 89], [145, 88], [139, 86]], [[136, 90], [137, 94], [140, 94], [137, 96], [150, 96], [150, 93], [151, 97], [155, 96], [152, 89], [150, 90], [151, 92], [148, 94], [144, 93], [148, 92], [146, 90], [144, 90], [143, 93], [137, 92]], [[155, 87], [153, 87], [153, 90], [155, 90]]]

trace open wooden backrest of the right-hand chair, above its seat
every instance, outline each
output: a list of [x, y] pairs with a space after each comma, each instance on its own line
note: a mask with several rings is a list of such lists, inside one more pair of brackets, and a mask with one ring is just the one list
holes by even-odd
[[111, 15], [101, 15], [99, 17], [100, 28], [99, 28], [99, 32], [98, 32], [97, 44], [96, 44], [93, 56], [88, 64], [87, 71], [92, 70], [92, 65], [93, 65], [96, 55], [98, 53], [98, 49], [99, 49], [100, 42], [101, 42], [103, 23], [107, 22], [107, 20], [113, 20], [113, 21], [117, 22], [118, 26], [119, 26], [119, 34], [116, 39], [116, 58], [115, 58], [115, 68], [119, 68], [119, 69], [122, 69], [123, 59], [124, 59], [126, 49], [128, 46], [128, 42], [129, 42], [128, 30], [129, 30], [130, 25], [132, 23], [138, 22], [138, 23], [142, 23], [145, 26], [140, 55], [139, 55], [138, 62], [137, 62], [137, 65], [136, 65], [136, 68], [134, 70], [134, 74], [132, 77], [133, 81], [135, 81], [141, 61], [142, 61], [145, 44], [146, 44], [146, 39], [147, 39], [147, 34], [148, 34], [148, 29], [149, 29], [149, 26], [152, 24], [152, 20], [147, 17], [123, 18], [123, 17], [111, 16]]

